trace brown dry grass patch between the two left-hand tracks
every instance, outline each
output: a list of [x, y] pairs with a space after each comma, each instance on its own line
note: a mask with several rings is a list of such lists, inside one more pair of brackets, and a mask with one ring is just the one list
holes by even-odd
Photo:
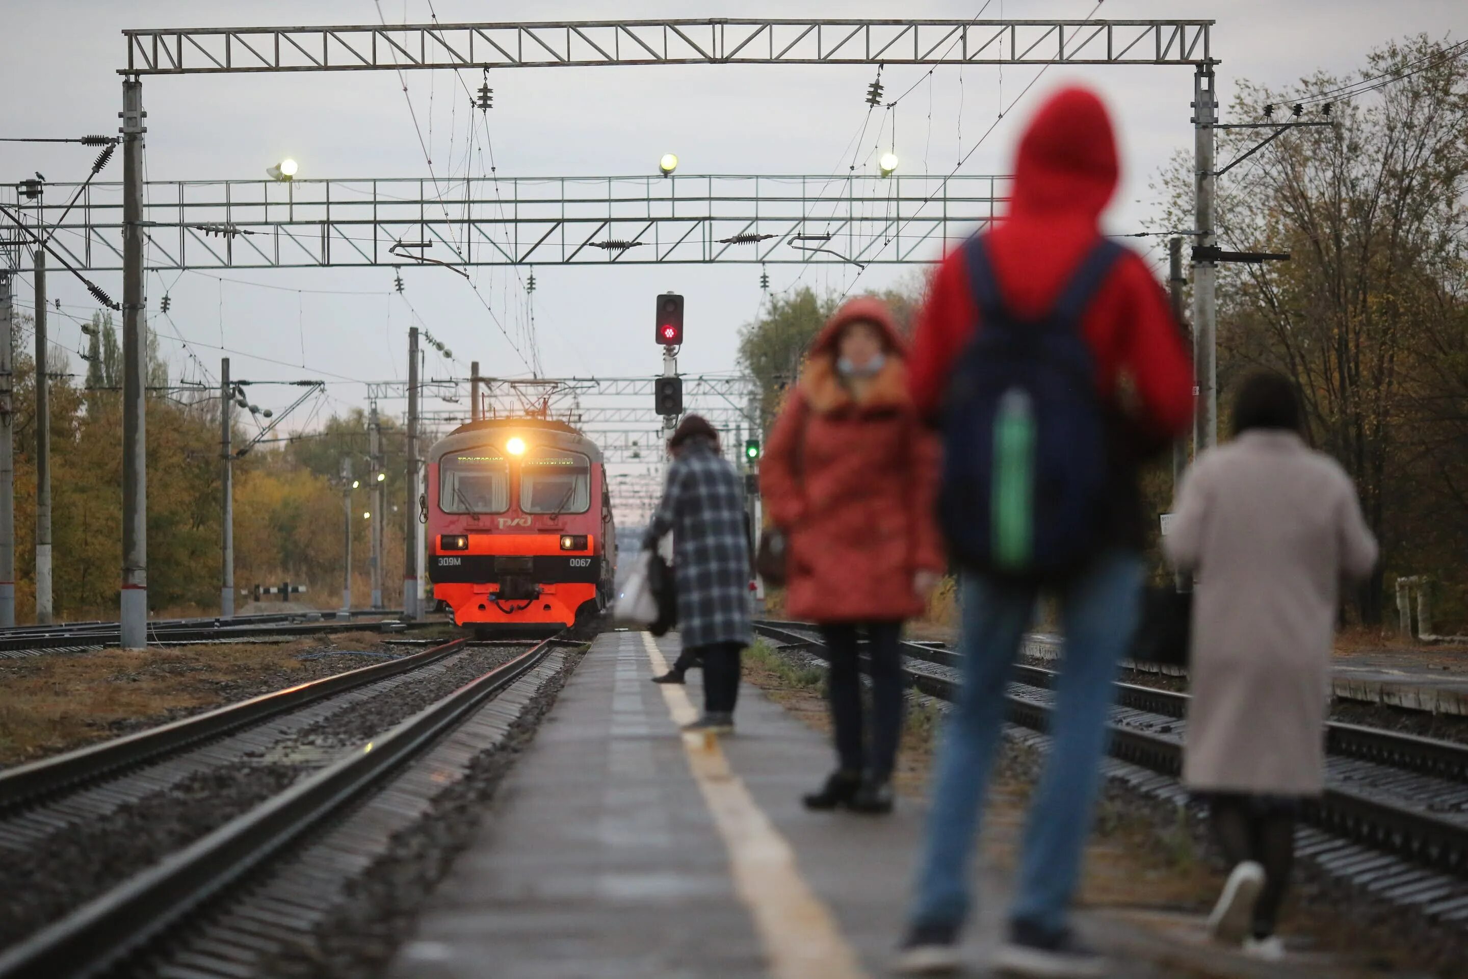
[[376, 650], [376, 633], [289, 643], [150, 647], [41, 655], [0, 665], [0, 765], [16, 765], [323, 675], [366, 658], [297, 659], [304, 652]]

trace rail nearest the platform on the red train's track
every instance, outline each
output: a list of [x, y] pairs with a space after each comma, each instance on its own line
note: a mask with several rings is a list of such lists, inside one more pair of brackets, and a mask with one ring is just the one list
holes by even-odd
[[[225, 823], [0, 954], [0, 979], [92, 976], [332, 818], [534, 669], [550, 637], [459, 687], [345, 759]], [[462, 640], [455, 640], [462, 643]]]

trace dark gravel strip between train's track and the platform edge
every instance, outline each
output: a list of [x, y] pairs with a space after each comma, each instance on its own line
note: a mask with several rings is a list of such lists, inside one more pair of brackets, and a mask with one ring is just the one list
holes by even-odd
[[[550, 653], [380, 793], [255, 875], [129, 975], [172, 976], [186, 966], [272, 979], [380, 975], [583, 652]], [[307, 892], [310, 910], [298, 910], [288, 928], [252, 931], [251, 922], [273, 907], [299, 909]]]

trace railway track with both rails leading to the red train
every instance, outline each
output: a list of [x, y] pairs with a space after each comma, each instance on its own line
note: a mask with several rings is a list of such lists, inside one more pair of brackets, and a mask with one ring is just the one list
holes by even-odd
[[[470, 757], [445, 735], [561, 643], [459, 638], [0, 774], [0, 978], [101, 975], [159, 954], [150, 942], [170, 925], [371, 810], [376, 788], [408, 778], [432, 797]], [[399, 794], [377, 813], [382, 840], [410, 810]]]

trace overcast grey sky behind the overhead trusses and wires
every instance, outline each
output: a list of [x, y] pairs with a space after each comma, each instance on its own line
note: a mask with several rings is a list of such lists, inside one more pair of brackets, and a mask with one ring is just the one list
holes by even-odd
[[[586, 3], [473, 3], [433, 0], [439, 21], [545, 21], [659, 16], [846, 16], [972, 18], [982, 0], [846, 0], [843, 3], [750, 3], [709, 0], [672, 3], [619, 0]], [[1091, 0], [992, 0], [985, 18], [1082, 18]], [[0, 135], [79, 135], [116, 132], [120, 85], [116, 68], [125, 48], [119, 31], [139, 26], [244, 26], [279, 23], [373, 23], [371, 0], [0, 0], [7, 25], [0, 41], [0, 72], [7, 98], [0, 106]], [[426, 22], [429, 0], [383, 0], [389, 22]], [[1214, 18], [1214, 54], [1221, 59], [1223, 104], [1235, 82], [1284, 85], [1317, 69], [1351, 72], [1373, 47], [1393, 37], [1427, 32], [1468, 37], [1468, 3], [1461, 0], [1107, 0], [1098, 18]], [[922, 78], [926, 69], [891, 66], [884, 75], [888, 95]], [[1009, 101], [1035, 75], [1033, 68], [1004, 70]], [[501, 176], [643, 175], [659, 154], [675, 151], [680, 173], [831, 173], [843, 147], [865, 116], [865, 66], [687, 66], [625, 69], [526, 69], [495, 72], [495, 109], [489, 114]], [[474, 72], [465, 72], [477, 87]], [[1120, 129], [1124, 183], [1108, 214], [1114, 230], [1135, 230], [1151, 213], [1148, 183], [1170, 154], [1189, 148], [1192, 72], [1186, 68], [1097, 66], [1053, 69], [1001, 122], [964, 166], [966, 173], [1004, 173], [1019, 126], [1044, 94], [1082, 81], [1100, 90]], [[433, 95], [433, 154], [449, 154], [451, 112], [457, 104], [462, 138], [464, 95], [449, 72], [408, 72], [407, 82], [427, 134]], [[962, 151], [994, 120], [1000, 104], [995, 68], [962, 72]], [[897, 153], [904, 172], [950, 170], [960, 156], [960, 72], [941, 68], [929, 92], [925, 82], [897, 109]], [[270, 163], [291, 156], [301, 176], [427, 176], [427, 164], [393, 72], [299, 75], [232, 75], [148, 78], [147, 166], [150, 179], [258, 179]], [[0, 181], [15, 182], [32, 170], [51, 181], [85, 176], [92, 151], [79, 147], [0, 144]], [[442, 169], [440, 169], [442, 172]], [[120, 178], [120, 163], [104, 173]], [[1144, 242], [1144, 248], [1147, 242]], [[1157, 252], [1154, 252], [1154, 257]], [[881, 288], [916, 266], [878, 266], [862, 276], [863, 288]], [[772, 286], [785, 288], [794, 266], [772, 266]], [[172, 283], [148, 277], [150, 307]], [[255, 379], [317, 376], [323, 371], [357, 380], [401, 377], [405, 335], [413, 313], [390, 295], [390, 269], [244, 270], [232, 279], [282, 289], [220, 283], [185, 273], [170, 288], [172, 316], [194, 351], [217, 371], [219, 346], [288, 361], [292, 365], [233, 355], [236, 376]], [[844, 289], [854, 269], [822, 266], [804, 282]], [[418, 321], [452, 346], [467, 371], [470, 360], [484, 373], [523, 373], [518, 358], [484, 307], [462, 279], [443, 270], [405, 269], [405, 298]], [[120, 276], [98, 273], [120, 296]], [[649, 341], [649, 311], [656, 292], [687, 296], [684, 371], [728, 371], [734, 367], [738, 327], [755, 314], [759, 267], [536, 267], [534, 295], [540, 360], [548, 376], [653, 374], [659, 352]], [[518, 316], [520, 285], [512, 270], [483, 270], [482, 292], [511, 326]], [[51, 295], [68, 311], [87, 316], [90, 299], [65, 273], [50, 276]], [[512, 286], [508, 288], [506, 286]], [[18, 299], [29, 304], [29, 276], [18, 283]], [[363, 291], [370, 295], [320, 295], [297, 289]], [[505, 299], [509, 305], [502, 305]], [[304, 329], [302, 329], [304, 327]], [[75, 323], [53, 330], [69, 348], [81, 346]], [[159, 324], [163, 349], [186, 368], [181, 343]], [[302, 355], [304, 346], [304, 355]], [[301, 367], [299, 364], [305, 364]], [[448, 365], [433, 365], [442, 374]], [[285, 389], [280, 389], [285, 392]], [[323, 411], [364, 404], [364, 387], [333, 383]], [[279, 407], [292, 395], [261, 392], [261, 404]], [[385, 405], [401, 411], [401, 405]], [[298, 420], [304, 421], [304, 418]]]

